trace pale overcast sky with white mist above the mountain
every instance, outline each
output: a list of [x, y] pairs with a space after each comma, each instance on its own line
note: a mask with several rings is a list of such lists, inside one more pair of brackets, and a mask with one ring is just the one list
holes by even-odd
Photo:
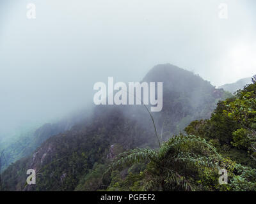
[[159, 63], [216, 86], [252, 77], [255, 15], [255, 0], [1, 0], [0, 136], [92, 103], [95, 82], [140, 81]]

